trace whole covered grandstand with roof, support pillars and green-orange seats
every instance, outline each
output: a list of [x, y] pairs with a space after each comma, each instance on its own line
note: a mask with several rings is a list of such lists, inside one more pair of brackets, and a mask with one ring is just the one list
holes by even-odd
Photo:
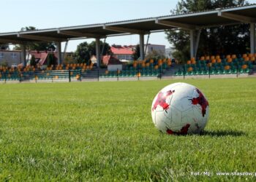
[[[244, 7], [228, 7], [225, 9], [214, 9], [205, 12], [193, 12], [184, 15], [167, 15], [162, 17], [150, 17], [140, 20], [127, 20], [113, 23], [102, 23], [95, 25], [80, 25], [64, 28], [50, 28], [35, 31], [23, 31], [15, 33], [0, 33], [1, 43], [25, 44], [26, 42], [55, 41], [57, 45], [58, 65], [48, 68], [26, 66], [26, 50], [23, 50], [23, 68], [8, 68], [1, 66], [0, 80], [7, 81], [35, 81], [50, 80], [69, 81], [78, 80], [109, 80], [111, 78], [184, 78], [191, 76], [210, 77], [211, 75], [236, 75], [248, 76], [253, 74], [255, 65], [255, 23], [256, 5]], [[230, 25], [249, 23], [250, 25], [250, 52], [244, 55], [203, 55], [196, 57], [200, 28], [214, 27], [219, 25]], [[144, 35], [166, 29], [183, 28], [190, 31], [190, 55], [191, 60], [184, 66], [173, 66], [170, 59], [148, 59], [144, 57]], [[101, 58], [99, 50], [99, 39], [107, 36], [119, 36], [127, 34], [140, 35], [140, 58], [131, 65], [125, 65], [122, 70], [108, 71], [99, 68]], [[196, 36], [197, 35], [197, 36]], [[96, 39], [97, 66], [82, 64], [64, 65], [61, 59], [61, 41], [84, 38]], [[231, 52], [230, 52], [231, 53]], [[114, 80], [112, 79], [112, 80]]]

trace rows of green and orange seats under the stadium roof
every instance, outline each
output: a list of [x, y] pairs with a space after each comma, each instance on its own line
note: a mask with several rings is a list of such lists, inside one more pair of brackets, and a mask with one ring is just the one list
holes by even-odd
[[[122, 70], [108, 71], [97, 68], [93, 63], [71, 63], [42, 68], [26, 66], [8, 68], [0, 66], [0, 82], [75, 82], [108, 80], [143, 80], [143, 79], [181, 79], [216, 77], [255, 76], [256, 54], [211, 55], [192, 58], [183, 66], [175, 60], [149, 59], [135, 60], [124, 65]], [[174, 63], [174, 64], [173, 64]]]

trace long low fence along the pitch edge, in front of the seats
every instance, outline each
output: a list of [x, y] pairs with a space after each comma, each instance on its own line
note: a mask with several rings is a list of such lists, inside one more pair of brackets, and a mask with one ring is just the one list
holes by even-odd
[[248, 70], [188, 72], [184, 67], [179, 71], [159, 69], [153, 72], [136, 70], [132, 72], [105, 70], [59, 70], [59, 71], [13, 71], [0, 72], [0, 82], [89, 82], [89, 81], [125, 81], [125, 80], [154, 80], [154, 79], [187, 79], [187, 78], [238, 78], [248, 76]]

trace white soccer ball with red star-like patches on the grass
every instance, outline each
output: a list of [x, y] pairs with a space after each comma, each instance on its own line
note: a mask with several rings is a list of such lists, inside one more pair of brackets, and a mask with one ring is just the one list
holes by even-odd
[[154, 98], [151, 116], [157, 129], [169, 135], [199, 133], [208, 122], [209, 104], [195, 86], [170, 84]]

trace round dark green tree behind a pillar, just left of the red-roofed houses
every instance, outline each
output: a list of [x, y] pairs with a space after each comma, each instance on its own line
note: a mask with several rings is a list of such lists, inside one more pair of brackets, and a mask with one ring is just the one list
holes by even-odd
[[[103, 48], [104, 45], [104, 48]], [[103, 49], [102, 55], [112, 55], [113, 53], [110, 50], [110, 45], [108, 43], [103, 43], [99, 41], [100, 50]], [[101, 53], [101, 52], [100, 52]], [[78, 45], [77, 50], [75, 51], [75, 58], [78, 60], [78, 63], [86, 63], [89, 65], [90, 58], [92, 55], [96, 55], [96, 42], [92, 41], [91, 44], [88, 44], [86, 41]]]

